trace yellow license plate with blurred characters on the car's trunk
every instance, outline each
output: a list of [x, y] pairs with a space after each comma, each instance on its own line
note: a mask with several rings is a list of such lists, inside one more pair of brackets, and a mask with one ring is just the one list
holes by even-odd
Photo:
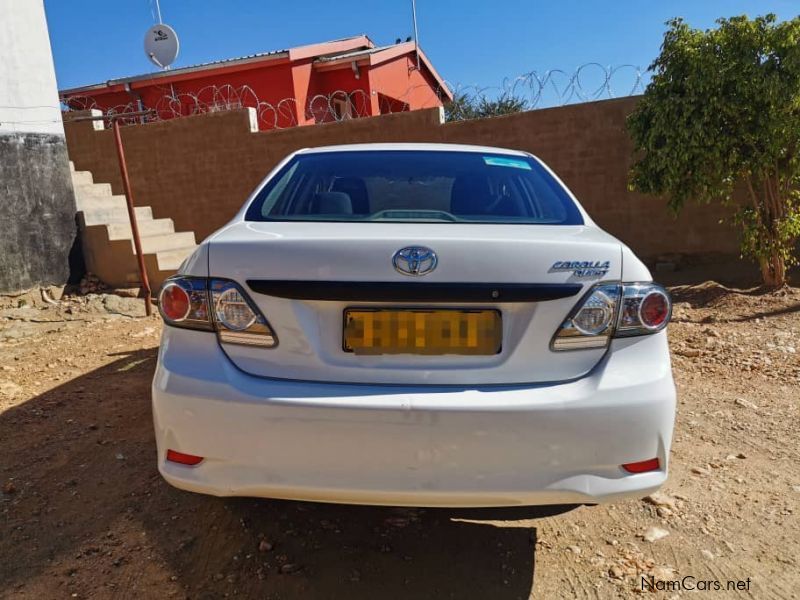
[[356, 354], [490, 355], [502, 337], [498, 310], [344, 311], [344, 349]]

